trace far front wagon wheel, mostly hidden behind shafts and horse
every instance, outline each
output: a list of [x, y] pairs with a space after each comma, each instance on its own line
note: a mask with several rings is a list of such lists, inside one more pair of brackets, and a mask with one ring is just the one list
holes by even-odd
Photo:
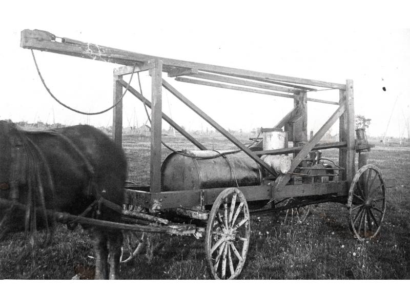
[[[126, 206], [127, 210], [141, 210], [138, 207], [134, 207], [133, 205]], [[122, 241], [121, 246], [120, 263], [128, 263], [133, 260], [139, 253], [141, 253], [142, 249], [145, 246], [147, 235], [141, 232], [123, 230], [122, 236], [124, 237], [124, 240]]]

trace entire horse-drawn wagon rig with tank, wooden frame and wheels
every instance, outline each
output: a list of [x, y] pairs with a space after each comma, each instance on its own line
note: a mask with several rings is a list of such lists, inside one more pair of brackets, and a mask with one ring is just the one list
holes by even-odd
[[[394, 185], [394, 179], [384, 179], [378, 167], [367, 164], [372, 145], [368, 144], [364, 129], [355, 130], [352, 80], [339, 84], [167, 59], [83, 43], [40, 30], [23, 30], [21, 46], [123, 65], [114, 69], [112, 134], [119, 145], [124, 88], [151, 108], [149, 184], [127, 183], [122, 206], [104, 201], [124, 215], [122, 223], [84, 223], [129, 230], [129, 236], [142, 231], [203, 237], [215, 279], [233, 279], [240, 274], [250, 245], [253, 214], [286, 210], [285, 219], [299, 223], [306, 219], [313, 204], [335, 202], [347, 207], [348, 224], [355, 238], [363, 241], [380, 233], [386, 211], [386, 188]], [[146, 70], [152, 79], [151, 102], [141, 89], [134, 89], [122, 79], [124, 75]], [[293, 109], [276, 125], [262, 128], [251, 146], [245, 145], [162, 79], [162, 73], [178, 82], [289, 98]], [[162, 88], [238, 150], [210, 150], [175, 123], [162, 112]], [[320, 90], [339, 91], [339, 101], [308, 97], [308, 93]], [[335, 106], [331, 117], [310, 138], [308, 102]], [[172, 153], [161, 164], [162, 120], [198, 150], [171, 149]], [[320, 143], [338, 120], [339, 141]], [[329, 148], [339, 149], [337, 164], [322, 157], [320, 150]], [[70, 217], [60, 217], [64, 219]], [[124, 261], [137, 253], [138, 248], [134, 248]]]

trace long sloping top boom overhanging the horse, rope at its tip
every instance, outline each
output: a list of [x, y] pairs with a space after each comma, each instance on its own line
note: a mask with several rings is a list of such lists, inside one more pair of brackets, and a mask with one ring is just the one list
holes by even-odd
[[[218, 65], [209, 65], [203, 63], [181, 61], [165, 57], [157, 57], [148, 54], [130, 52], [126, 50], [99, 46], [92, 43], [65, 44], [53, 41], [53, 36], [43, 35], [48, 33], [40, 30], [23, 30], [21, 34], [20, 46], [28, 49], [37, 49], [42, 51], [66, 54], [71, 56], [83, 57], [104, 62], [117, 63], [121, 65], [133, 65], [135, 62], [147, 62], [152, 59], [161, 60], [165, 71], [174, 67], [192, 68], [201, 71], [225, 74], [240, 78], [264, 78], [279, 82], [297, 83], [302, 85], [319, 86], [333, 89], [345, 89], [344, 84], [336, 84], [324, 81], [317, 81], [304, 78], [295, 78], [278, 74], [264, 73], [245, 69], [237, 69]], [[43, 37], [44, 36], [44, 37]], [[78, 41], [77, 41], [78, 42]], [[81, 43], [81, 44], [80, 44]]]

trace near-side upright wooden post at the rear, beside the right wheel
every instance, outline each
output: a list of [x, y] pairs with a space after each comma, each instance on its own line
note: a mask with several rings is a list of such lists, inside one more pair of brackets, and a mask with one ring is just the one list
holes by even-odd
[[347, 114], [347, 153], [346, 153], [346, 180], [352, 183], [356, 173], [355, 167], [355, 107], [353, 100], [353, 80], [346, 80], [346, 114]]

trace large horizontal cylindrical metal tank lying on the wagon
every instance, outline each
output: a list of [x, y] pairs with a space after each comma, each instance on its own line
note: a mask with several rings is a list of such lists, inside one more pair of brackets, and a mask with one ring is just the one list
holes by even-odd
[[228, 151], [186, 152], [196, 158], [171, 153], [161, 166], [162, 191], [253, 186], [262, 183], [259, 165], [243, 152], [207, 159], [224, 152]]

